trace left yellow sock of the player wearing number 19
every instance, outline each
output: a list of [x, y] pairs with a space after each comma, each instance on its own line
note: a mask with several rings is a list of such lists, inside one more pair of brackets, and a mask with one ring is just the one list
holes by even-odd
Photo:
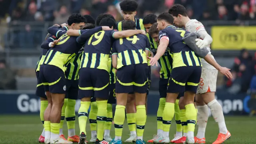
[[84, 132], [86, 134], [86, 121], [88, 118], [88, 109], [90, 107], [91, 102], [82, 102], [80, 108], [78, 110], [78, 122], [80, 128], [80, 134]]

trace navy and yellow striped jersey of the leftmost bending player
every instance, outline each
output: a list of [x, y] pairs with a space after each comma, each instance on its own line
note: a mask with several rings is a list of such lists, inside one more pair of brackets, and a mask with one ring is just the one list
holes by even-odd
[[82, 44], [76, 41], [77, 37], [68, 36], [66, 31], [58, 30], [56, 27], [52, 26], [52, 29], [48, 29], [50, 34], [56, 34], [56, 37], [60, 39], [58, 44], [54, 48], [50, 48], [45, 56], [43, 64], [49, 64], [59, 67], [66, 71], [70, 60], [78, 54], [79, 50], [82, 48]]

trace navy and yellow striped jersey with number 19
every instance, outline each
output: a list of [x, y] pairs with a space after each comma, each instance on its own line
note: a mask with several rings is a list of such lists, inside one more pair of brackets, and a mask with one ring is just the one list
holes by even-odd
[[80, 68], [98, 68], [109, 72], [108, 59], [115, 31], [101, 30], [86, 41]]

